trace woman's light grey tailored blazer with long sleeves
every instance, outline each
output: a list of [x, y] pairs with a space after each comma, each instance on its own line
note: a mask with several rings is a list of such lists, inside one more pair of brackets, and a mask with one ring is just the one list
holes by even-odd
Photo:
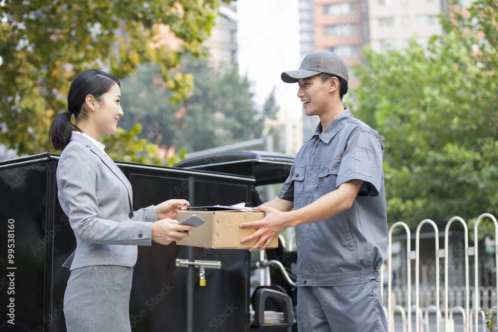
[[[131, 185], [92, 141], [73, 132], [57, 166], [59, 202], [76, 236], [64, 267], [133, 266], [136, 245], [150, 245], [153, 206], [133, 212]], [[144, 222], [148, 221], [148, 222]]]

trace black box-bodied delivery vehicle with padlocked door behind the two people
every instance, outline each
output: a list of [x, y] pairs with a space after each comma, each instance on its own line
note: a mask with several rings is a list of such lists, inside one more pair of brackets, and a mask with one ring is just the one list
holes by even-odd
[[[76, 240], [57, 198], [58, 157], [42, 153], [0, 162], [0, 332], [66, 331], [69, 270], [62, 264]], [[135, 209], [176, 198], [197, 207], [254, 207], [273, 199], [293, 159], [245, 151], [188, 159], [175, 167], [117, 165], [133, 187]], [[278, 247], [265, 254], [260, 259], [258, 251], [175, 242], [139, 246], [130, 296], [132, 331], [297, 331], [296, 253], [280, 237]], [[264, 278], [258, 277], [261, 269]]]

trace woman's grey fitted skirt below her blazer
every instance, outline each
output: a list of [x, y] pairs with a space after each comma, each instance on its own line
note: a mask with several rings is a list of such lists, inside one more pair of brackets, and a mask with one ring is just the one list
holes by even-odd
[[133, 268], [85, 266], [71, 271], [64, 293], [68, 332], [129, 332]]

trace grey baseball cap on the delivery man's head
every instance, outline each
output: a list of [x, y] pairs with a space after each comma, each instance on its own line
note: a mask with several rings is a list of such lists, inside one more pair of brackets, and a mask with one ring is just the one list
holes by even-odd
[[308, 53], [298, 70], [283, 72], [280, 76], [285, 83], [296, 83], [299, 79], [311, 77], [320, 73], [339, 76], [349, 81], [346, 62], [334, 52], [316, 51]]

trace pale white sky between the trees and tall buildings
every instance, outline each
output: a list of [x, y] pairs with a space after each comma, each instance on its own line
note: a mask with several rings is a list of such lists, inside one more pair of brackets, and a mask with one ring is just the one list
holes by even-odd
[[277, 104], [298, 116], [297, 84], [283, 83], [283, 71], [296, 70], [299, 55], [298, 0], [238, 0], [239, 70], [252, 82], [254, 102], [262, 106], [275, 87]]

